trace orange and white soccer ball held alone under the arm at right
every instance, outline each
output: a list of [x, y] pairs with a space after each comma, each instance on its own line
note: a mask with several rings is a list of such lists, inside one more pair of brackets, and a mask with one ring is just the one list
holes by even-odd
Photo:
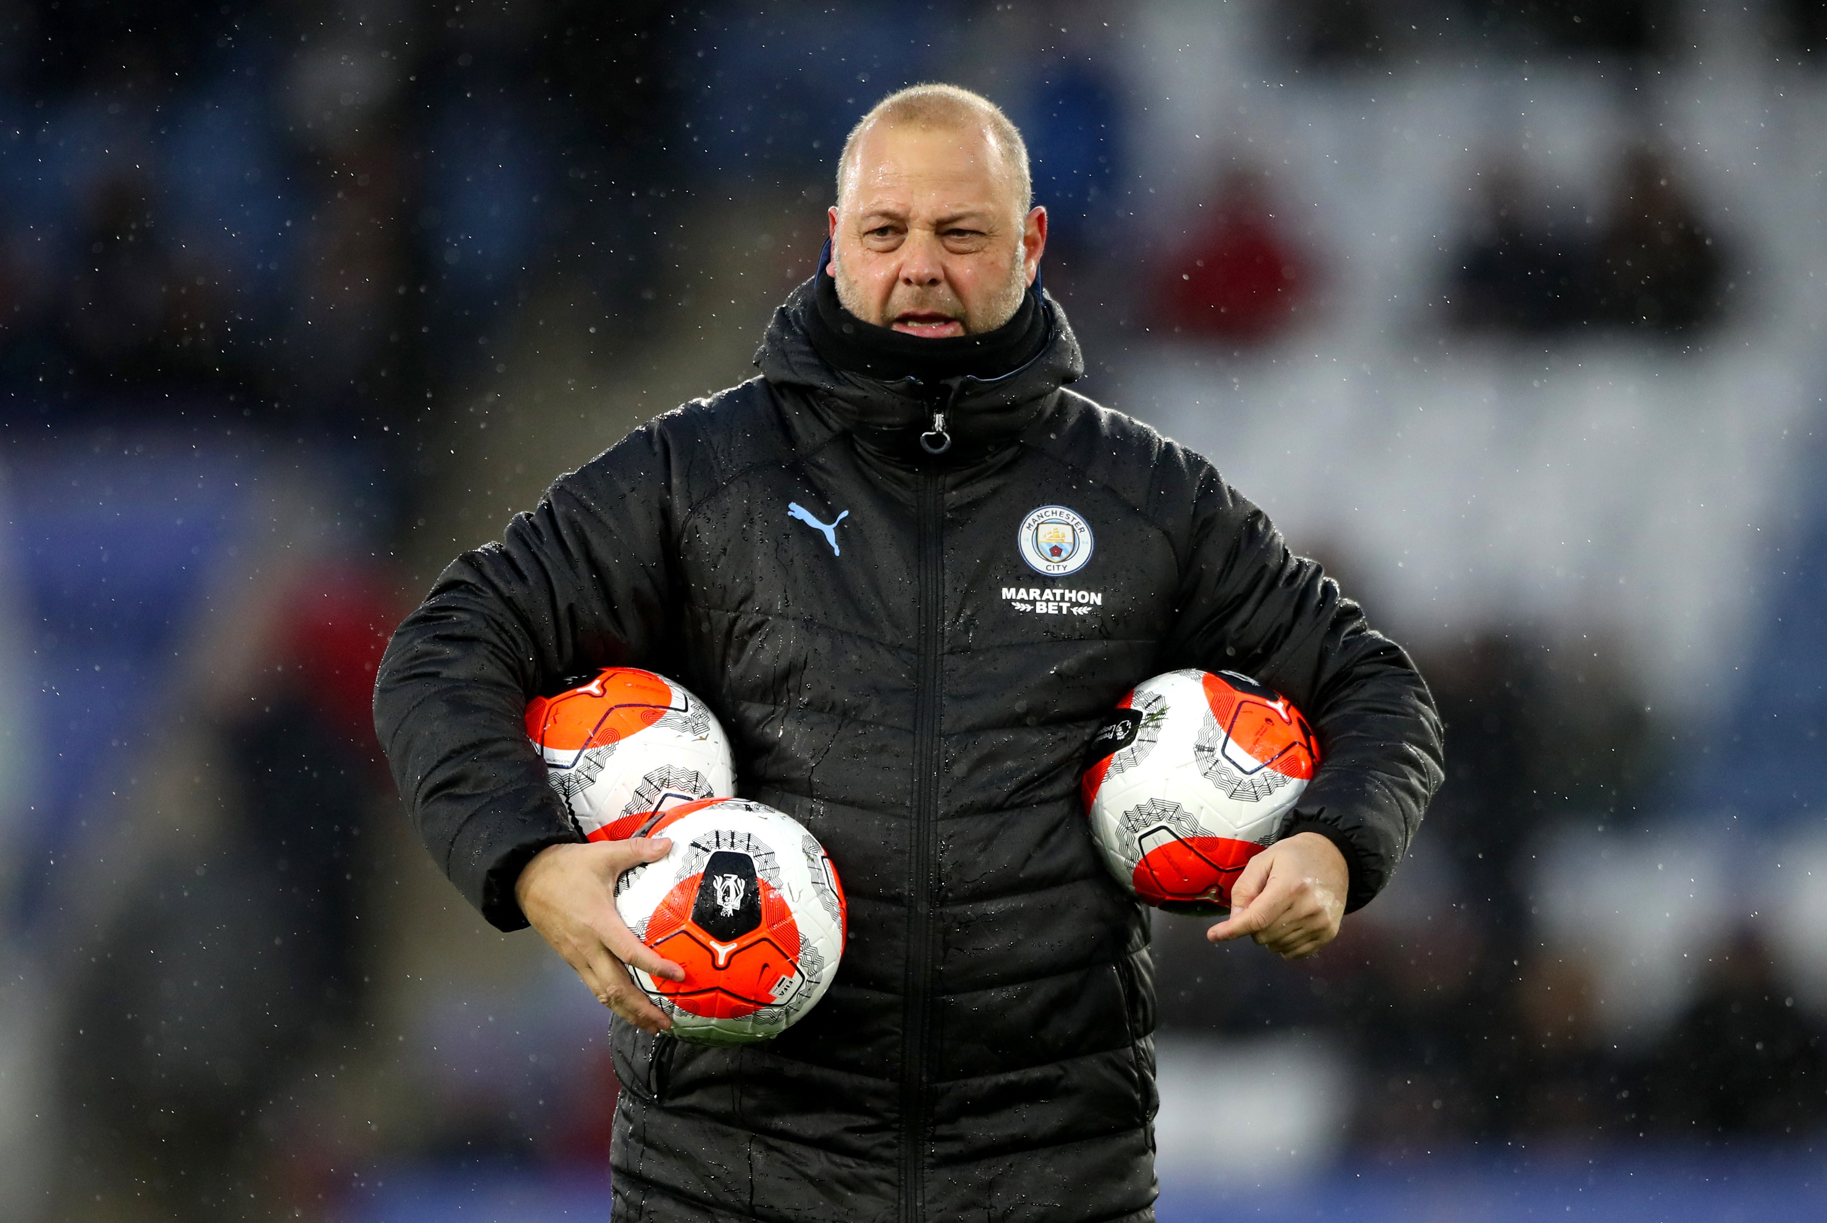
[[1222, 914], [1319, 764], [1306, 718], [1235, 671], [1144, 680], [1091, 740], [1085, 810], [1125, 888], [1169, 912]]

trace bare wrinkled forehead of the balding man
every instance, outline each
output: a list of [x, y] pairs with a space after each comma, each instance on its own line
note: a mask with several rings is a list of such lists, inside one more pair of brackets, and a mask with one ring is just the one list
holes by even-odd
[[906, 205], [939, 194], [952, 207], [998, 207], [1014, 190], [1001, 148], [981, 126], [877, 122], [857, 141], [844, 203]]

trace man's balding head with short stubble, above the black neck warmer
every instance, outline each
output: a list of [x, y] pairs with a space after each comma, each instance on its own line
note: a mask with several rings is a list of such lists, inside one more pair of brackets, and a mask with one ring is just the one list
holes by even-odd
[[1027, 144], [994, 102], [948, 84], [890, 93], [837, 161], [837, 296], [908, 335], [994, 331], [1047, 245], [1047, 210], [1032, 203]]

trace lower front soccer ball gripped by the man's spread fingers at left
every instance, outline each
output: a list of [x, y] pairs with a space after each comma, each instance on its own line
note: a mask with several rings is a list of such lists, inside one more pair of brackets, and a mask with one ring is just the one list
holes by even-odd
[[683, 982], [628, 965], [634, 982], [696, 1044], [778, 1037], [809, 1011], [844, 954], [844, 888], [793, 817], [747, 799], [667, 812], [656, 863], [621, 872], [616, 910], [634, 936], [685, 969]]

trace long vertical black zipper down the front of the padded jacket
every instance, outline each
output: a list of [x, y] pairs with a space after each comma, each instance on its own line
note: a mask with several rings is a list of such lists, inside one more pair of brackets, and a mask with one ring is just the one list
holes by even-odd
[[934, 914], [939, 850], [939, 653], [945, 601], [945, 477], [919, 477], [919, 664], [914, 709], [914, 826], [908, 865], [908, 967], [904, 1055], [901, 1073], [901, 1219], [921, 1223], [926, 1214], [926, 1057], [932, 1022]]

